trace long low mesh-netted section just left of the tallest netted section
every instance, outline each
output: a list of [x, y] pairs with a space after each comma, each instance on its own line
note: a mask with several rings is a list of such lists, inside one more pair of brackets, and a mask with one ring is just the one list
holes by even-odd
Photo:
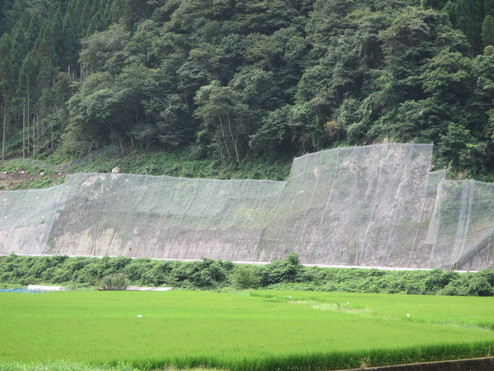
[[67, 177], [50, 254], [250, 260], [284, 182], [124, 174]]

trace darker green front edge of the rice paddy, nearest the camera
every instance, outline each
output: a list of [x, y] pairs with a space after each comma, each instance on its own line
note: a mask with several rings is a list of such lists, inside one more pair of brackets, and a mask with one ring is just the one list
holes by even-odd
[[232, 371], [255, 370], [341, 370], [352, 368], [404, 365], [412, 363], [491, 357], [494, 342], [445, 344], [402, 349], [373, 351], [329, 352], [266, 356], [255, 358], [222, 359], [212, 356], [142, 359], [122, 362], [83, 363], [57, 360], [51, 362], [5, 362], [0, 371], [131, 371], [131, 370], [192, 370], [216, 369]]

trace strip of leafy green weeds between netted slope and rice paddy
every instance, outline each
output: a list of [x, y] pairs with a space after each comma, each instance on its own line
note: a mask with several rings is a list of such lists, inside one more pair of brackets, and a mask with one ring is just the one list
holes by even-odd
[[239, 265], [127, 257], [0, 257], [0, 287], [55, 284], [98, 287], [104, 277], [123, 274], [132, 286], [173, 286], [192, 290], [294, 289], [415, 295], [493, 296], [494, 270], [458, 273], [305, 267], [295, 254], [267, 265]]

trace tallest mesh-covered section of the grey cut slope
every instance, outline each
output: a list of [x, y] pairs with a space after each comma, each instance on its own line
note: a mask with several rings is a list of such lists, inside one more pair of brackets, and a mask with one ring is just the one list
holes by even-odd
[[432, 146], [338, 148], [295, 159], [261, 260], [408, 267], [421, 244]]

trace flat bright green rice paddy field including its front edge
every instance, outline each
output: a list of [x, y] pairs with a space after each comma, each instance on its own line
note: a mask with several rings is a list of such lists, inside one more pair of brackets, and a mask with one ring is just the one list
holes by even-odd
[[60, 360], [88, 369], [341, 369], [486, 356], [494, 347], [492, 297], [0, 293], [0, 315], [0, 370]]

